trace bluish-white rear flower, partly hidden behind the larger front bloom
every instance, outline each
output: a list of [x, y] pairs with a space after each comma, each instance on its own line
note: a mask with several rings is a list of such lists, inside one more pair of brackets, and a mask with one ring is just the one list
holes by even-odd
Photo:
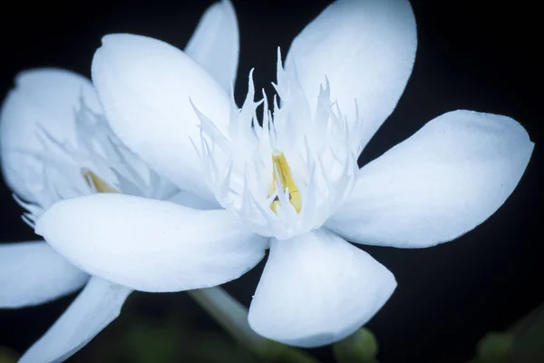
[[[230, 88], [238, 66], [238, 25], [230, 3], [209, 8], [186, 52], [225, 89]], [[26, 208], [24, 221], [31, 226], [54, 202], [97, 191], [168, 199], [200, 209], [214, 206], [179, 192], [126, 149], [111, 132], [92, 83], [83, 76], [39, 69], [19, 74], [15, 83], [0, 115], [0, 151], [5, 182]], [[190, 246], [196, 242], [189, 240], [185, 248], [198, 250]], [[232, 245], [237, 248], [236, 242]], [[262, 259], [265, 247], [255, 248], [253, 254], [244, 252], [240, 259], [234, 253], [219, 271], [212, 269], [207, 276], [192, 270], [190, 261], [180, 260], [180, 266], [172, 268], [188, 281], [187, 289], [218, 284], [253, 267]], [[0, 308], [41, 304], [84, 286], [21, 362], [68, 358], [119, 315], [131, 289], [90, 276], [77, 266], [44, 240], [0, 245]], [[191, 280], [191, 276], [198, 279]]]

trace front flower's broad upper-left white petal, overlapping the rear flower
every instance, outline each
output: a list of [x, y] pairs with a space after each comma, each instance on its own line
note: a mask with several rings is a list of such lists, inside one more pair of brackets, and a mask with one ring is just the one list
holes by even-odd
[[190, 140], [200, 145], [189, 98], [226, 133], [230, 103], [219, 83], [179, 49], [131, 34], [102, 38], [92, 82], [122, 142], [181, 189], [214, 198]]

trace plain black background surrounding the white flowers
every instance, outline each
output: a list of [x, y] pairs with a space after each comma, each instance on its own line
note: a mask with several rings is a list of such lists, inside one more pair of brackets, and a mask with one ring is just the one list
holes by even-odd
[[[241, 34], [236, 83], [237, 100], [241, 101], [248, 70], [254, 66], [257, 87], [271, 93], [277, 46], [287, 54], [292, 38], [328, 2], [233, 3]], [[393, 298], [367, 325], [379, 340], [380, 361], [464, 362], [473, 357], [476, 342], [486, 332], [507, 329], [544, 302], [539, 10], [537, 3], [529, 1], [412, 3], [419, 38], [413, 75], [393, 115], [366, 148], [362, 162], [403, 141], [433, 117], [455, 109], [509, 115], [536, 143], [518, 188], [476, 230], [426, 250], [363, 247], [393, 271], [399, 284]], [[83, 0], [3, 6], [0, 95], [4, 97], [15, 74], [27, 68], [57, 66], [89, 76], [92, 54], [103, 34], [145, 34], [183, 48], [209, 4], [211, 1]], [[33, 239], [5, 185], [0, 186], [0, 201], [0, 240]], [[262, 265], [226, 288], [248, 304]], [[73, 296], [36, 308], [0, 310], [0, 346], [23, 352], [71, 299]], [[173, 327], [170, 331], [185, 327], [190, 338], [184, 341], [183, 336], [161, 330], [165, 324]], [[98, 357], [108, 352], [113, 357], [138, 341], [127, 338], [135, 332], [143, 332], [143, 346], [160, 346], [170, 339], [171, 344], [187, 349], [197, 344], [188, 343], [195, 337], [226, 337], [183, 293], [135, 293], [121, 317], [72, 361], [102, 361], [105, 358]], [[156, 332], [151, 334], [154, 340], [145, 338], [146, 332]], [[324, 361], [332, 358], [330, 348], [312, 353]], [[115, 360], [136, 361], [129, 353], [119, 354], [116, 357], [123, 358]]]

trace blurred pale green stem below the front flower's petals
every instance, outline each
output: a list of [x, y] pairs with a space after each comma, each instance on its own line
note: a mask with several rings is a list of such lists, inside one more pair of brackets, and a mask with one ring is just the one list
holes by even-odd
[[259, 336], [248, 324], [248, 309], [220, 287], [192, 289], [189, 296], [239, 344], [267, 362], [317, 363], [300, 349]]

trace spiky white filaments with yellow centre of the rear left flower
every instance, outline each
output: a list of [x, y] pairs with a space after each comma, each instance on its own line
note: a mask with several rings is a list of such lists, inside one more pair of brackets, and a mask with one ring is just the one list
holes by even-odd
[[27, 224], [34, 226], [44, 211], [63, 199], [96, 192], [168, 199], [177, 191], [129, 151], [105, 117], [87, 107], [83, 98], [74, 119], [74, 142], [58, 140], [42, 128], [37, 131], [40, 152], [15, 151], [24, 157], [24, 165], [13, 172], [20, 174], [33, 196], [33, 201], [23, 201], [14, 195], [27, 211], [23, 215]]

